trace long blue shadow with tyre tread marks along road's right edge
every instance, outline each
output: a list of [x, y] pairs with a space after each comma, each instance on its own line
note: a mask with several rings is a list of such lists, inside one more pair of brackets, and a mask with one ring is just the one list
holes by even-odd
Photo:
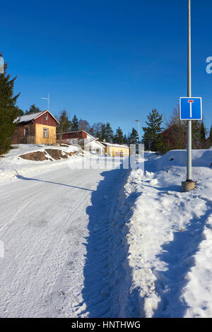
[[[124, 185], [127, 170], [103, 172], [104, 179], [92, 194], [92, 206], [88, 206], [89, 236], [87, 239], [86, 265], [84, 267], [84, 289], [81, 307], [77, 307], [81, 317], [115, 317], [119, 314], [119, 277], [124, 278], [122, 264], [117, 263], [120, 250], [124, 250], [122, 232], [117, 234], [117, 226], [122, 215], [115, 218], [119, 210], [119, 192]], [[122, 179], [120, 181], [120, 178]], [[120, 212], [120, 211], [119, 211]], [[122, 223], [122, 228], [124, 227]], [[119, 237], [117, 249], [117, 237]], [[124, 261], [123, 261], [124, 262]]]

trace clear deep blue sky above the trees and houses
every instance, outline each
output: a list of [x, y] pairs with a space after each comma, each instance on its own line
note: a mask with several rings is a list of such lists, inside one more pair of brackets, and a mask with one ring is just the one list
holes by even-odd
[[[212, 3], [192, 0], [192, 94], [212, 123]], [[187, 0], [4, 1], [0, 50], [17, 75], [18, 106], [110, 121], [126, 134], [187, 95]]]

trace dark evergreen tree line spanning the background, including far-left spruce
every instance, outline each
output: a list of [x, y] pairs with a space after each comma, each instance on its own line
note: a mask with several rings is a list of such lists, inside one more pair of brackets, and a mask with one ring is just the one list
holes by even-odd
[[[0, 57], [2, 54], [0, 52]], [[11, 78], [6, 73], [7, 64], [4, 63], [4, 73], [0, 74], [0, 155], [6, 153], [11, 147], [11, 136], [16, 130], [14, 120], [23, 114], [33, 114], [40, 112], [35, 104], [30, 105], [28, 110], [23, 112], [17, 105], [17, 99], [20, 95], [14, 95], [15, 78]], [[143, 126], [143, 138], [139, 141], [139, 134], [135, 128], [126, 136], [120, 127], [114, 132], [109, 122], [98, 122], [90, 125], [87, 120], [79, 119], [76, 114], [70, 120], [64, 109], [59, 117], [60, 125], [57, 126], [57, 132], [84, 130], [88, 134], [99, 138], [100, 141], [118, 144], [137, 144], [144, 143], [146, 150], [153, 150], [160, 153], [166, 153], [172, 149], [185, 149], [187, 146], [187, 121], [180, 121], [179, 107], [175, 108], [169, 121], [163, 127], [163, 115], [159, 114], [157, 109], [147, 116], [146, 126]], [[208, 138], [206, 138], [208, 136]], [[192, 121], [192, 148], [210, 148], [212, 146], [212, 126], [208, 132], [204, 121]]]

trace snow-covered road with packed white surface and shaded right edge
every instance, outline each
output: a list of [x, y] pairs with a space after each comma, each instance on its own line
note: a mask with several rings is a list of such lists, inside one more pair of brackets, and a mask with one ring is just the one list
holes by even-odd
[[64, 165], [1, 184], [1, 317], [114, 315], [108, 223], [126, 174]]

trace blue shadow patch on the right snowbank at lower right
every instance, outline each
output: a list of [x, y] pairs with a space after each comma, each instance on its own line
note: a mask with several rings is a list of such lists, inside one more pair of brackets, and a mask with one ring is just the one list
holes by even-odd
[[158, 255], [160, 261], [167, 263], [167, 271], [155, 271], [156, 290], [162, 299], [154, 314], [155, 318], [181, 318], [188, 309], [181, 295], [188, 283], [185, 276], [195, 265], [194, 255], [202, 241], [201, 233], [212, 213], [211, 203], [206, 203], [206, 206], [208, 211], [199, 218], [194, 216], [186, 231], [174, 232], [173, 241], [164, 244], [163, 254]]

